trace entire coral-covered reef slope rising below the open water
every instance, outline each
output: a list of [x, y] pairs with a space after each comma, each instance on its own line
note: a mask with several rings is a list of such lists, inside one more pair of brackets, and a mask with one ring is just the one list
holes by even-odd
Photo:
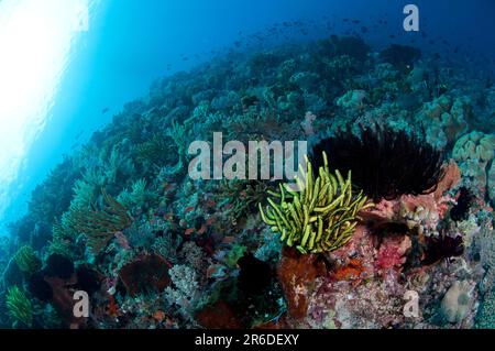
[[[1, 239], [0, 327], [493, 328], [494, 91], [450, 58], [337, 35], [160, 78]], [[308, 141], [301, 191], [189, 177], [213, 132]]]

